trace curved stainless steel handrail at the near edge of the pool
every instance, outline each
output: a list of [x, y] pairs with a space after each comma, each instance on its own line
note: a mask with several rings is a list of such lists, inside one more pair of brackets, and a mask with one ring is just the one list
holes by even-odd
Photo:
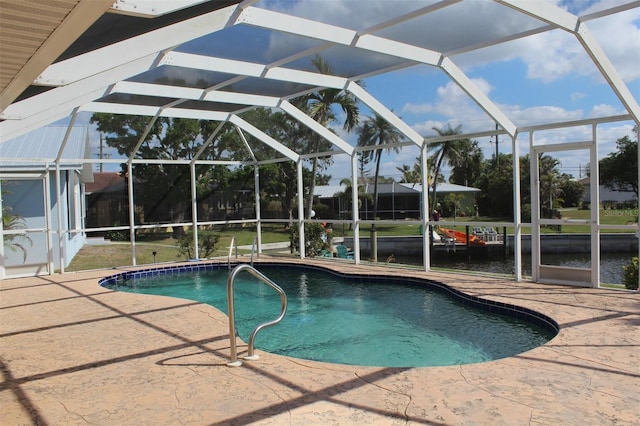
[[284, 315], [287, 313], [287, 295], [285, 294], [284, 290], [280, 288], [278, 284], [271, 281], [269, 278], [267, 278], [264, 274], [262, 274], [260, 271], [258, 271], [256, 268], [254, 268], [251, 265], [242, 264], [242, 265], [236, 266], [233, 269], [233, 271], [229, 273], [229, 278], [227, 279], [227, 305], [228, 305], [228, 311], [229, 311], [229, 341], [230, 341], [230, 348], [231, 348], [231, 362], [227, 363], [227, 365], [230, 367], [239, 367], [242, 365], [242, 361], [238, 360], [238, 349], [236, 347], [236, 322], [235, 322], [235, 312], [233, 307], [233, 281], [235, 280], [236, 275], [238, 275], [239, 272], [244, 270], [247, 270], [247, 272], [249, 272], [251, 275], [253, 275], [263, 283], [269, 285], [271, 288], [276, 290], [280, 294], [280, 301], [282, 302], [282, 309], [280, 311], [280, 315], [278, 315], [276, 319], [272, 321], [267, 321], [265, 323], [258, 325], [251, 332], [251, 336], [249, 337], [248, 353], [245, 359], [247, 360], [258, 359], [258, 356], [253, 354], [253, 343], [255, 341], [256, 335], [262, 329], [278, 324], [280, 321], [282, 321], [282, 319], [284, 318]]

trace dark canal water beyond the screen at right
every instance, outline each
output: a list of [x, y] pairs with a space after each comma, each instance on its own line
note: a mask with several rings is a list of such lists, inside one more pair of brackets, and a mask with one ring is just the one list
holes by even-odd
[[[608, 284], [622, 284], [623, 267], [628, 265], [633, 256], [637, 253], [604, 253], [600, 256], [600, 282]], [[591, 259], [588, 253], [576, 254], [544, 254], [543, 264], [556, 266], [570, 266], [576, 268], [589, 268]], [[422, 259], [416, 258], [399, 258], [396, 256], [396, 262], [402, 262], [412, 265], [422, 265]], [[515, 262], [513, 256], [509, 255], [506, 259], [483, 259], [476, 258], [467, 260], [460, 256], [438, 256], [433, 259], [431, 266], [449, 269], [462, 269], [468, 271], [482, 271], [498, 274], [514, 274]], [[523, 275], [531, 275], [531, 256], [522, 256], [522, 273]]]

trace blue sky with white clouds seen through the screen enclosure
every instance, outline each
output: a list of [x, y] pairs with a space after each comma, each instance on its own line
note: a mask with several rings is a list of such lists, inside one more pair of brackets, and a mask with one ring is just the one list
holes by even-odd
[[[534, 1], [534, 0], [531, 0]], [[536, 0], [539, 1], [539, 0]], [[626, 3], [621, 0], [548, 0], [569, 12], [584, 15], [601, 10], [606, 5]], [[272, 10], [284, 11], [300, 17], [353, 27], [354, 14], [362, 27], [376, 23], [380, 16], [400, 14], [415, 6], [418, 0], [263, 0], [256, 4]], [[425, 5], [434, 3], [425, 0]], [[365, 5], [367, 7], [363, 7]], [[389, 10], [388, 8], [393, 8]], [[456, 14], [456, 20], [447, 19]], [[452, 27], [451, 22], [456, 22]], [[413, 28], [412, 26], [413, 25]], [[416, 19], [407, 25], [409, 31], [399, 34], [391, 27], [379, 35], [392, 39], [418, 43], [438, 51], [451, 52], [457, 46], [470, 42], [491, 40], [510, 31], [524, 30], [538, 25], [537, 21], [515, 14], [511, 10], [488, 0], [467, 0], [462, 4], [431, 13], [424, 19]], [[640, 7], [610, 17], [587, 21], [596, 40], [625, 81], [636, 100], [640, 99]], [[362, 29], [362, 28], [355, 28]], [[412, 31], [413, 29], [413, 31]], [[473, 30], [471, 30], [473, 29]], [[235, 30], [234, 30], [235, 31]], [[280, 33], [260, 35], [260, 53], [263, 60], [282, 57], [292, 50], [292, 43], [299, 42]], [[479, 35], [480, 34], [480, 35]], [[478, 38], [481, 37], [481, 38]], [[233, 49], [230, 49], [230, 51]], [[241, 54], [235, 49], [235, 54]], [[230, 53], [231, 54], [231, 53]], [[256, 54], [256, 53], [252, 53]], [[335, 68], [345, 74], [353, 69], [366, 69], [366, 60], [352, 58], [346, 49], [326, 52]], [[451, 55], [460, 67], [517, 126], [527, 126], [553, 121], [569, 121], [608, 115], [624, 114], [625, 110], [606, 83], [598, 69], [588, 58], [582, 46], [571, 35], [554, 30], [526, 39], [503, 43], [472, 53]], [[358, 61], [356, 64], [356, 60]], [[384, 62], [387, 58], [374, 57], [371, 61]], [[375, 64], [371, 64], [374, 66]], [[491, 130], [493, 121], [441, 70], [426, 65], [416, 65], [391, 73], [366, 78], [366, 90], [402, 118], [422, 136], [431, 136], [433, 128], [447, 125], [462, 126], [464, 133]], [[365, 115], [371, 112], [362, 107]], [[340, 113], [338, 112], [338, 116]], [[339, 116], [338, 119], [341, 117]], [[81, 118], [77, 124], [88, 122]], [[615, 150], [615, 141], [632, 136], [632, 122], [601, 125], [598, 137], [601, 143], [599, 157]], [[347, 134], [341, 123], [334, 130], [348, 142], [355, 144], [355, 134]], [[529, 134], [520, 135], [521, 152], [528, 151]], [[591, 139], [589, 127], [579, 127], [536, 134], [539, 143], [587, 141]], [[539, 138], [539, 139], [538, 139]], [[495, 153], [493, 139], [475, 139], [483, 148], [485, 158]], [[92, 144], [97, 156], [99, 136], [92, 131]], [[499, 137], [501, 153], [511, 152], [511, 139]], [[412, 166], [418, 155], [417, 148], [404, 148], [400, 153], [385, 154], [381, 175], [400, 179], [397, 170], [402, 165]], [[561, 162], [561, 172], [582, 177], [589, 162], [586, 150], [554, 153]], [[370, 166], [371, 175], [373, 167]], [[332, 184], [349, 177], [349, 160], [346, 156], [335, 158], [327, 171], [333, 176]], [[448, 169], [445, 167], [445, 171]]]

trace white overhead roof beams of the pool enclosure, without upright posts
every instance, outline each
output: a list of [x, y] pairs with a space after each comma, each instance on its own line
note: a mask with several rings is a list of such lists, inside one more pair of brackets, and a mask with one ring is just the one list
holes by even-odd
[[[86, 6], [87, 3], [86, 0], [78, 1], [80, 6]], [[204, 3], [211, 2], [186, 1], [182, 5], [196, 8], [204, 7]], [[135, 6], [135, 4], [136, 0], [116, 1], [114, 9], [121, 9], [127, 5]], [[244, 131], [252, 133], [263, 143], [278, 150], [283, 154], [283, 158], [292, 161], [299, 161], [300, 158], [309, 158], [308, 156], [301, 157], [299, 153], [288, 150], [280, 142], [266, 137], [259, 129], [239, 118], [238, 114], [241, 111], [261, 105], [283, 109], [293, 115], [294, 118], [312, 127], [321, 136], [329, 139], [338, 148], [338, 152], [353, 156], [356, 149], [350, 143], [331, 134], [331, 132], [320, 129], [308, 117], [305, 118], [301, 115], [299, 110], [296, 111], [290, 107], [291, 104], [288, 101], [297, 94], [301, 94], [302, 91], [289, 93], [284, 97], [277, 97], [257, 93], [238, 93], [229, 90], [230, 85], [234, 83], [239, 83], [247, 78], [259, 78], [304, 84], [307, 86], [304, 90], [305, 92], [313, 90], [313, 88], [344, 88], [369, 106], [372, 111], [380, 114], [397, 127], [413, 144], [424, 148], [425, 144], [450, 139], [440, 137], [425, 138], [418, 134], [394, 114], [391, 109], [387, 108], [383, 102], [380, 102], [374, 95], [357, 83], [363, 76], [378, 75], [390, 70], [414, 66], [415, 64], [426, 64], [443, 71], [487, 113], [488, 117], [499, 124], [500, 128], [495, 132], [487, 130], [487, 132], [475, 134], [508, 134], [515, 143], [516, 135], [527, 131], [526, 128], [516, 126], [500, 107], [485, 95], [456, 64], [455, 57], [465, 52], [557, 29], [566, 31], [578, 40], [627, 110], [628, 114], [625, 117], [633, 120], [636, 124], [639, 121], [640, 108], [638, 108], [637, 100], [619, 77], [615, 67], [609, 62], [606, 54], [593, 38], [586, 24], [587, 21], [601, 16], [638, 7], [640, 3], [637, 1], [627, 2], [600, 12], [578, 17], [550, 3], [496, 0], [495, 7], [505, 7], [514, 11], [515, 14], [527, 15], [538, 24], [527, 27], [520, 32], [512, 32], [503, 38], [480, 40], [467, 45], [452, 46], [452, 50], [446, 52], [413, 45], [408, 43], [407, 40], [385, 37], [384, 34], [391, 29], [400, 28], [408, 22], [415, 22], [420, 17], [435, 15], [449, 8], [464, 7], [465, 3], [459, 0], [426, 2], [424, 5], [415, 6], [414, 10], [408, 12], [398, 10], [397, 16], [380, 18], [373, 25], [360, 25], [359, 27], [354, 25], [354, 28], [336, 25], [331, 22], [320, 22], [308, 17], [293, 16], [281, 11], [268, 10], [261, 7], [263, 3], [258, 0], [228, 2], [225, 5], [227, 6], [218, 10], [206, 10], [201, 15], [194, 13], [189, 15], [186, 20], [172, 21], [169, 19], [167, 21], [168, 26], [160, 26], [151, 32], [136, 34], [132, 38], [120, 40], [113, 45], [102, 46], [97, 50], [89, 49], [76, 56], [65, 56], [63, 54], [60, 61], [55, 63], [51, 63], [54, 60], [49, 61], [50, 65], [45, 63], [48, 66], [42, 70], [39, 76], [34, 77], [33, 82], [40, 85], [51, 85], [54, 88], [31, 97], [19, 98], [15, 102], [16, 97], [11, 99], [12, 94], [16, 93], [15, 84], [10, 91], [3, 89], [3, 108], [0, 111], [0, 118], [3, 121], [0, 123], [0, 135], [2, 135], [0, 143], [2, 143], [2, 140], [22, 134], [29, 129], [38, 128], [70, 114], [75, 116], [75, 114], [82, 111], [129, 111], [148, 115], [149, 117], [196, 117], [222, 122], [229, 121]], [[184, 13], [185, 10], [173, 13]], [[132, 9], [127, 10], [126, 13], [132, 13]], [[95, 19], [95, 14], [87, 17], [87, 20], [90, 19]], [[87, 24], [86, 20], [83, 22]], [[311, 47], [290, 53], [285, 57], [267, 61], [267, 63], [229, 58], [207, 58], [202, 55], [180, 52], [179, 48], [175, 49], [181, 44], [181, 40], [182, 42], [187, 42], [198, 36], [210, 34], [212, 31], [224, 31], [230, 27], [240, 26], [262, 28], [270, 31], [285, 31], [297, 37], [313, 39], [314, 43]], [[166, 39], [168, 35], [172, 36], [170, 40]], [[388, 55], [389, 57], [400, 58], [401, 61], [391, 61], [377, 71], [375, 69], [367, 69], [363, 71], [363, 74], [352, 77], [322, 75], [309, 70], [290, 67], [295, 61], [299, 61], [305, 56], [326, 52], [336, 45], [344, 46], [346, 49], [353, 48], [373, 52], [375, 55]], [[213, 72], [228, 73], [231, 77], [204, 89], [180, 87], [179, 85], [153, 84], [146, 86], [146, 83], [133, 81], [135, 76], [139, 75], [143, 70], [153, 69], [158, 66], [178, 66], [185, 70], [191, 67], [203, 68]], [[29, 71], [30, 73], [27, 75], [34, 74], [33, 67]], [[142, 94], [151, 92], [153, 96], [156, 96], [167, 91], [171, 92], [171, 96], [166, 102], [159, 102], [155, 106], [100, 102], [100, 99], [114, 93]], [[229, 102], [229, 100], [232, 100], [232, 102]], [[196, 105], [193, 101], [212, 103], [214, 110], [207, 111], [193, 108]], [[227, 107], [216, 110], [216, 102], [220, 102], [219, 105]], [[233, 105], [235, 104], [233, 102], [238, 102], [237, 110], [234, 109]], [[192, 107], [184, 108], [185, 105]], [[557, 124], [549, 123], [549, 125]], [[458, 135], [457, 137], [465, 136]], [[516, 149], [514, 148], [514, 154], [515, 152]], [[514, 155], [514, 157], [516, 156]]]

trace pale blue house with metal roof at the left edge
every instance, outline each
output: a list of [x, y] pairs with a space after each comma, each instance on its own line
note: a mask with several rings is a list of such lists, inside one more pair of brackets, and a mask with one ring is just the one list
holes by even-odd
[[[13, 229], [0, 230], [0, 277], [46, 274], [69, 265], [84, 244], [83, 184], [93, 179], [91, 165], [78, 159], [90, 155], [85, 127], [43, 127], [0, 143], [0, 204], [5, 215], [17, 219]], [[34, 158], [50, 161], [30, 161]]]

